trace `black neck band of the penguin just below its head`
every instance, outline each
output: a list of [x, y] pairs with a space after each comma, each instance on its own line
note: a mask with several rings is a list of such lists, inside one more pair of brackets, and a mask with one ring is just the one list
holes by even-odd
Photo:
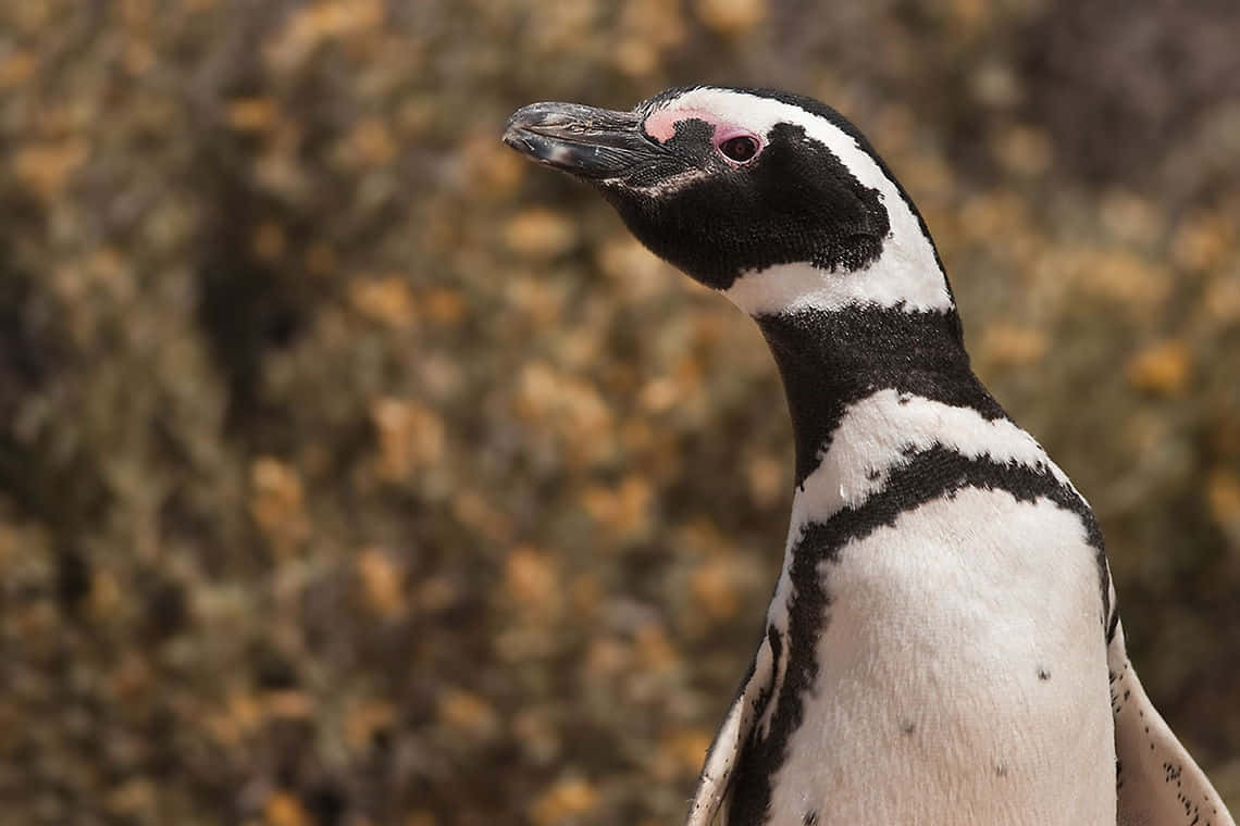
[[754, 316], [784, 380], [796, 440], [796, 485], [853, 402], [882, 389], [1002, 416], [968, 364], [955, 307], [801, 305]]

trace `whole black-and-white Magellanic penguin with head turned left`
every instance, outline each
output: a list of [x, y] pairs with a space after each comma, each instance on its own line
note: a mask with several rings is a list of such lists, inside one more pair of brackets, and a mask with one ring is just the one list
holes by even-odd
[[1233, 825], [1128, 663], [1092, 511], [973, 375], [852, 124], [697, 87], [533, 104], [503, 140], [753, 316], [784, 379], [784, 567], [688, 826]]

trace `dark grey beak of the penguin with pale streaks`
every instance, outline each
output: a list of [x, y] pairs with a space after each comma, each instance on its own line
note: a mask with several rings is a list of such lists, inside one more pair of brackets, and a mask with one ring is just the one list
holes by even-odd
[[589, 181], [625, 177], [657, 154], [636, 113], [575, 103], [532, 103], [518, 109], [508, 118], [503, 142]]

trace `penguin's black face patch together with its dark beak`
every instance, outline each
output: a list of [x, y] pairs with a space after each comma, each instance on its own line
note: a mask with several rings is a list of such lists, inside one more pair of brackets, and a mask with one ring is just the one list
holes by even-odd
[[754, 135], [689, 116], [658, 140], [645, 125], [660, 100], [632, 113], [533, 104], [505, 142], [590, 181], [646, 246], [715, 289], [775, 264], [851, 271], [879, 256], [889, 222], [878, 191], [802, 126]]

